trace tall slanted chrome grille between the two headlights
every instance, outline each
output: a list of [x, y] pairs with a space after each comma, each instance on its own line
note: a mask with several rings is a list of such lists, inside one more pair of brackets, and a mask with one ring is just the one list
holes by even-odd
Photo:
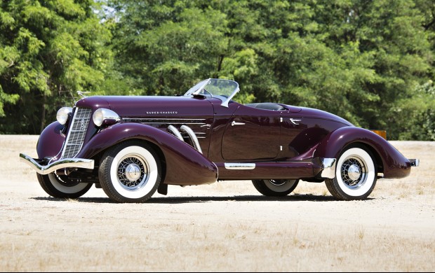
[[63, 148], [62, 158], [74, 158], [81, 150], [88, 130], [89, 120], [91, 120], [91, 113], [91, 109], [76, 108]]

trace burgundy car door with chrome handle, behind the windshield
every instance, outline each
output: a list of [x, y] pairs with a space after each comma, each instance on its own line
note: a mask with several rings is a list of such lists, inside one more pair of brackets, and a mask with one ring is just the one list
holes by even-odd
[[241, 105], [222, 137], [224, 160], [271, 160], [280, 151], [280, 111]]

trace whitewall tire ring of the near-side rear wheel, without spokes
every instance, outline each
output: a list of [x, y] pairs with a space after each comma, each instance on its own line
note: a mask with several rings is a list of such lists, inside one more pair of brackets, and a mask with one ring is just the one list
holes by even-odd
[[[341, 176], [343, 162], [348, 158], [359, 158], [359, 160], [363, 161], [367, 169], [365, 181], [357, 188], [349, 188], [349, 186], [344, 183]], [[376, 183], [376, 175], [376, 167], [375, 162], [373, 162], [373, 157], [363, 148], [352, 147], [340, 155], [340, 158], [337, 161], [337, 167], [335, 169], [334, 180], [337, 184], [337, 190], [342, 195], [349, 199], [362, 199], [370, 195], [370, 193], [373, 191]]]

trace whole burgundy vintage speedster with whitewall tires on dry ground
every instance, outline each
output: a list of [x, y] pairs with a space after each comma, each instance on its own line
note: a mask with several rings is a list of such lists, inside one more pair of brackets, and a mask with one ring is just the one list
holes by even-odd
[[325, 182], [337, 200], [363, 200], [377, 179], [417, 166], [386, 139], [331, 113], [239, 104], [239, 84], [209, 78], [174, 97], [84, 97], [41, 133], [38, 158], [20, 154], [53, 197], [93, 184], [116, 202], [145, 202], [168, 185], [252, 180], [267, 196]]

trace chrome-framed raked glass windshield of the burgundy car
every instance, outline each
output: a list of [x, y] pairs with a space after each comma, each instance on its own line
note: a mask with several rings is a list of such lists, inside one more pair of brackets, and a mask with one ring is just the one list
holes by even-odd
[[196, 83], [194, 87], [186, 92], [185, 96], [194, 94], [206, 97], [215, 97], [222, 100], [222, 106], [228, 106], [228, 102], [234, 95], [239, 92], [239, 83], [234, 80], [224, 80], [220, 78], [209, 78]]

